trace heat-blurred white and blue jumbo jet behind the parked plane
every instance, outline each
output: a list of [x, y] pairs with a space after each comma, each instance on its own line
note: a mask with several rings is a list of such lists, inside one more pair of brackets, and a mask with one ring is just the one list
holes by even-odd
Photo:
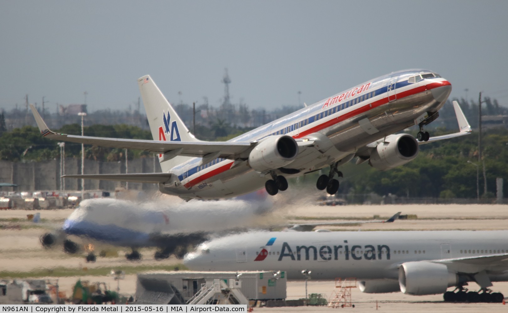
[[[62, 247], [71, 254], [90, 247], [91, 242], [132, 248], [132, 253], [125, 255], [129, 260], [140, 259], [138, 249], [142, 247], [157, 247], [155, 259], [171, 254], [182, 258], [187, 247], [202, 243], [212, 233], [256, 227], [258, 219], [272, 208], [264, 190], [262, 193], [238, 200], [196, 202], [84, 200], [60, 229], [40, 239], [46, 248]], [[96, 260], [93, 251], [86, 260]]]

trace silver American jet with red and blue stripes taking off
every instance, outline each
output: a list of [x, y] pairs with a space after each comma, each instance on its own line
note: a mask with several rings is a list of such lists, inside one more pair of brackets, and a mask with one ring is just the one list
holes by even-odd
[[[326, 167], [317, 189], [334, 194], [338, 167], [357, 157], [378, 170], [416, 158], [419, 144], [471, 132], [454, 103], [459, 132], [430, 137], [424, 126], [438, 117], [452, 85], [435, 72], [411, 69], [393, 72], [316, 102], [281, 119], [226, 142], [194, 137], [150, 76], [138, 79], [152, 140], [99, 138], [57, 134], [48, 129], [34, 106], [45, 137], [158, 154], [162, 173], [87, 174], [65, 177], [157, 183], [161, 192], [182, 199], [234, 197], [263, 186], [271, 195], [288, 188], [287, 178]], [[418, 125], [418, 141], [395, 134]]]

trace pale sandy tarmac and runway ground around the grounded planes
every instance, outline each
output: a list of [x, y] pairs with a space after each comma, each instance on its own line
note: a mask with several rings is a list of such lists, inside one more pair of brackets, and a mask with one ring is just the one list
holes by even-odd
[[[277, 203], [275, 203], [277, 205]], [[375, 223], [354, 226], [327, 226], [334, 230], [493, 230], [508, 229], [508, 205], [383, 205], [383, 206], [315, 206], [293, 203], [290, 208], [277, 211], [277, 220], [285, 218], [302, 221], [330, 220], [343, 221], [342, 218], [371, 218], [374, 215], [382, 217], [392, 216], [395, 212], [416, 215], [417, 219], [397, 220], [394, 223]], [[44, 223], [36, 224], [26, 220], [27, 214], [41, 213]], [[86, 263], [83, 255], [70, 256], [61, 249], [44, 249], [39, 243], [39, 236], [51, 227], [61, 225], [63, 220], [72, 212], [65, 210], [8, 210], [0, 211], [0, 272], [3, 277], [8, 273], [27, 278], [29, 272], [37, 273], [37, 278], [47, 278], [51, 281], [58, 279], [60, 290], [70, 295], [71, 288], [78, 280], [90, 282], [106, 282], [111, 289], [116, 289], [117, 282], [110, 276], [90, 276], [89, 272], [98, 268], [121, 269], [129, 267], [132, 274], [126, 275], [120, 281], [121, 294], [134, 294], [136, 288], [136, 268], [139, 271], [149, 270], [150, 267], [158, 269], [161, 266], [173, 267], [179, 264], [179, 260], [170, 258], [163, 261], [153, 260], [154, 249], [142, 250], [143, 260], [131, 262], [125, 260], [123, 254], [130, 252], [126, 249], [118, 249], [118, 256], [106, 258], [99, 257], [95, 263]], [[303, 223], [303, 222], [302, 222]], [[18, 227], [20, 226], [20, 227]], [[21, 229], [20, 229], [21, 228]], [[74, 276], [55, 277], [54, 272], [65, 269], [74, 272]], [[47, 275], [45, 275], [47, 273]], [[12, 275], [12, 274], [11, 274]], [[321, 293], [329, 297], [335, 289], [333, 281], [309, 281], [308, 293]], [[476, 284], [471, 284], [470, 289], [476, 290]], [[494, 291], [508, 295], [508, 283], [494, 283]], [[288, 282], [288, 299], [305, 297], [305, 285], [303, 281]], [[364, 294], [354, 288], [352, 290], [353, 309], [356, 312], [373, 311], [377, 309], [385, 312], [478, 312], [489, 310], [491, 312], [506, 311], [507, 306], [499, 303], [443, 303], [442, 295], [431, 296], [408, 296], [402, 293], [390, 294]], [[339, 308], [340, 309], [340, 308]], [[267, 312], [322, 312], [330, 311], [328, 307], [283, 307], [283, 308], [255, 308], [255, 311]]]

